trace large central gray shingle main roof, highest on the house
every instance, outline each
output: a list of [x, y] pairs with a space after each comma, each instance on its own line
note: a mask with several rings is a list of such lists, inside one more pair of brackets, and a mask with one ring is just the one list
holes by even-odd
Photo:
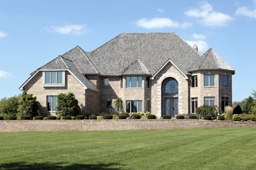
[[176, 33], [122, 33], [86, 54], [103, 75], [113, 76], [137, 58], [151, 74], [169, 59], [186, 73], [201, 56]]

